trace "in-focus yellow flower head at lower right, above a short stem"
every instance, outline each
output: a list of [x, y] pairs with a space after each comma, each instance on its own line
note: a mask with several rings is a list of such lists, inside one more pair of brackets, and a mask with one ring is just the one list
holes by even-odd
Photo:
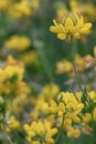
[[51, 106], [49, 111], [52, 113], [58, 113], [58, 116], [63, 116], [65, 113], [65, 119], [70, 119], [74, 122], [79, 122], [77, 115], [84, 109], [84, 104], [78, 102], [73, 93], [66, 92], [61, 93], [57, 96], [58, 105], [55, 101], [51, 101]]

